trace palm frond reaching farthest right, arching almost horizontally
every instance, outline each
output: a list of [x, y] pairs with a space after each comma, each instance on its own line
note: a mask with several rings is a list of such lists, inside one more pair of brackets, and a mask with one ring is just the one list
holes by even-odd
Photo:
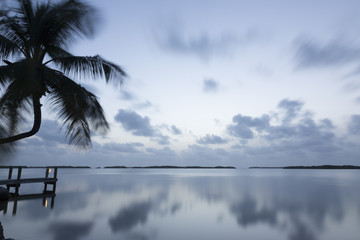
[[125, 71], [118, 65], [106, 61], [99, 55], [93, 57], [60, 57], [52, 60], [67, 75], [80, 78], [105, 78], [106, 82], [121, 84], [126, 76]]

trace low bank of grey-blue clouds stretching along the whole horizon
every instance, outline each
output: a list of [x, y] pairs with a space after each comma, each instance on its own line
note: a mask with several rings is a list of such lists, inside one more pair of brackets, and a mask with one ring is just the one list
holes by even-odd
[[[237, 114], [225, 128], [224, 136], [206, 134], [188, 142], [186, 148], [176, 149], [172, 137], [181, 131], [175, 125], [151, 124], [149, 117], [120, 109], [116, 121], [135, 136], [147, 137], [157, 144], [147, 146], [142, 141], [100, 144], [94, 139], [88, 154], [71, 151], [59, 134], [55, 121], [45, 120], [42, 132], [18, 144], [14, 164], [29, 162], [51, 165], [116, 165], [119, 158], [129, 166], [180, 163], [180, 165], [274, 166], [293, 164], [357, 164], [360, 156], [355, 138], [339, 136], [330, 119], [316, 119], [301, 101], [283, 99], [277, 108], [259, 117]], [[360, 133], [360, 115], [352, 115], [348, 133]], [[52, 132], [53, 131], [53, 132]], [[161, 131], [167, 131], [169, 136]], [[337, 134], [336, 134], [337, 133]], [[188, 139], [188, 138], [187, 138]], [[227, 143], [227, 144], [226, 144]], [[166, 145], [166, 146], [164, 146]], [[216, 147], [219, 145], [219, 147]], [[216, 148], [214, 148], [214, 146]], [[221, 146], [221, 147], [220, 147]], [[175, 151], [177, 150], [177, 151]], [[99, 163], [98, 159], [106, 161]], [[51, 160], [50, 160], [51, 159]], [[66, 160], [64, 160], [66, 159]]]

